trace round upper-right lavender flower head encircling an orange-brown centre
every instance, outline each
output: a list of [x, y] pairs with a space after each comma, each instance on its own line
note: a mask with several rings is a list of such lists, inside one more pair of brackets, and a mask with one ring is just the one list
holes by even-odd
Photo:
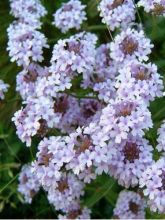
[[118, 63], [138, 59], [147, 61], [153, 44], [142, 30], [128, 28], [118, 34], [110, 45], [111, 57]]

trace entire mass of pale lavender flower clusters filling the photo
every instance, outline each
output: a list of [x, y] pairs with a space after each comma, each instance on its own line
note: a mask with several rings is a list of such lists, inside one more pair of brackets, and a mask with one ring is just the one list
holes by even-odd
[[[141, 5], [155, 13], [164, 1], [140, 0]], [[79, 0], [62, 4], [54, 24], [62, 32], [79, 29], [86, 20], [84, 8]], [[23, 99], [12, 120], [26, 146], [34, 136], [41, 138], [36, 159], [20, 173], [19, 191], [30, 203], [42, 187], [62, 212], [59, 219], [90, 218], [91, 211], [80, 199], [85, 184], [102, 173], [125, 188], [141, 187], [146, 196], [121, 192], [114, 217], [145, 218], [146, 200], [151, 210], [165, 212], [165, 158], [162, 154], [155, 162], [153, 147], [145, 138], [153, 127], [148, 107], [163, 96], [163, 79], [149, 62], [153, 44], [143, 30], [132, 26], [135, 8], [132, 0], [101, 0], [103, 23], [112, 31], [120, 30], [114, 40], [96, 46], [97, 36], [85, 31], [60, 39], [50, 66], [43, 66], [39, 62], [48, 44], [38, 29], [46, 10], [38, 0], [11, 0], [17, 20], [8, 28], [8, 50], [11, 61], [22, 66], [16, 90]], [[68, 92], [77, 77], [82, 78], [81, 89], [92, 91], [89, 97], [79, 99]], [[50, 136], [52, 130], [61, 135]], [[163, 124], [158, 151], [165, 150], [164, 131]]]

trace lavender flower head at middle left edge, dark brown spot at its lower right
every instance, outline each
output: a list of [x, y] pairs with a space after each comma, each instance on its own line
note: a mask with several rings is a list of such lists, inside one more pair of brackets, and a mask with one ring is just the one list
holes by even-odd
[[43, 137], [49, 128], [59, 123], [59, 117], [54, 112], [54, 101], [51, 98], [40, 97], [27, 101], [25, 108], [17, 111], [12, 119], [17, 128], [17, 135], [27, 146], [35, 135]]

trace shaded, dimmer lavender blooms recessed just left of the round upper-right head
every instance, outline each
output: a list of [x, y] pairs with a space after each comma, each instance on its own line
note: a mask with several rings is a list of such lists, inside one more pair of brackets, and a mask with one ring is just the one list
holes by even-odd
[[[101, 60], [101, 62], [100, 62]], [[114, 79], [117, 65], [110, 57], [110, 44], [102, 44], [96, 50], [94, 71], [83, 74], [83, 88], [92, 88], [98, 93], [98, 98], [108, 102], [115, 96]]]

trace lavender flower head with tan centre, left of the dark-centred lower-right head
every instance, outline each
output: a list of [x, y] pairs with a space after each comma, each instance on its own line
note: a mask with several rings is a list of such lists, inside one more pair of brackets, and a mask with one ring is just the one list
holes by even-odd
[[[73, 170], [76, 175], [80, 175], [81, 179], [84, 176], [83, 173], [87, 170], [88, 172], [90, 171], [90, 175], [92, 174], [92, 178], [94, 178], [93, 173], [100, 175], [103, 172], [108, 172], [107, 162], [116, 153], [114, 148], [111, 150], [105, 145], [104, 147], [95, 145], [94, 140], [90, 137], [90, 132], [90, 129], [83, 130], [78, 128], [76, 132], [71, 133], [66, 138], [67, 145], [73, 146], [75, 153], [73, 159], [66, 167]], [[94, 170], [92, 167], [94, 167]], [[90, 182], [90, 179], [87, 178], [84, 181]]]

